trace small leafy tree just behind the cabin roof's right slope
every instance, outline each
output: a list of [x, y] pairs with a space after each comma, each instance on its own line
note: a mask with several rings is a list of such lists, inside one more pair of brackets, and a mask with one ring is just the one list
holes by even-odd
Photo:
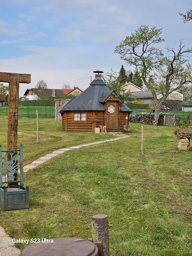
[[110, 73], [107, 72], [106, 74], [102, 75], [102, 78], [106, 83], [107, 87], [110, 90], [115, 90], [117, 95], [119, 95], [121, 99], [123, 99], [125, 102], [129, 102], [131, 99], [130, 91], [122, 87], [122, 85], [119, 83], [118, 77], [118, 73], [113, 71], [112, 69]]

